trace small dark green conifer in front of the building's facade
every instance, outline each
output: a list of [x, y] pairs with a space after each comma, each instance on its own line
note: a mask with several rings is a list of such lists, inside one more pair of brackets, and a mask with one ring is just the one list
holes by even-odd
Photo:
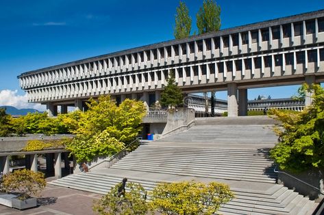
[[181, 105], [183, 103], [182, 91], [177, 85], [175, 85], [175, 74], [173, 70], [171, 70], [167, 81], [168, 85], [164, 87], [161, 93], [161, 105], [171, 107]]

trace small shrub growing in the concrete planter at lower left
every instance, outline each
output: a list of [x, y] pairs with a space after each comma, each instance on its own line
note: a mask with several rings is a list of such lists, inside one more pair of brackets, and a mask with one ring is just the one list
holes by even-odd
[[38, 195], [46, 186], [44, 173], [19, 169], [3, 175], [3, 188], [6, 192], [18, 192], [19, 199], [25, 200]]

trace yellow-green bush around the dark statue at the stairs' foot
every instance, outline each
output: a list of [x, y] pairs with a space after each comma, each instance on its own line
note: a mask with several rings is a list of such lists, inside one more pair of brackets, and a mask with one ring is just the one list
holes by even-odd
[[147, 214], [149, 207], [146, 202], [146, 192], [140, 184], [127, 183], [126, 188], [129, 190], [125, 193], [125, 197], [118, 197], [117, 184], [108, 192], [107, 195], [102, 197], [99, 201], [95, 202], [92, 210], [100, 215], [140, 215]]

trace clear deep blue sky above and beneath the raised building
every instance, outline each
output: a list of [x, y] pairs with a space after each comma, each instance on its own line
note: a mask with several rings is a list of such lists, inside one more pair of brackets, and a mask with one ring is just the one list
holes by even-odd
[[[184, 2], [195, 31], [202, 0]], [[323, 0], [216, 2], [221, 6], [221, 29], [324, 9]], [[5, 89], [11, 99], [25, 98], [16, 78], [22, 72], [172, 40], [177, 5], [175, 0], [0, 1], [0, 105], [8, 100], [1, 97]], [[296, 90], [297, 86], [253, 89], [249, 99], [258, 94], [285, 98]]]

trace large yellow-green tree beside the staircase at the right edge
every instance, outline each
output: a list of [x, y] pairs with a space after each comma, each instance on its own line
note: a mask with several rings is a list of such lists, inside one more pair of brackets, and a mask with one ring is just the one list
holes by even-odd
[[313, 102], [302, 112], [273, 110], [284, 130], [277, 128], [280, 143], [271, 157], [281, 169], [292, 172], [324, 167], [324, 89], [319, 85], [303, 85], [300, 96], [312, 91]]

